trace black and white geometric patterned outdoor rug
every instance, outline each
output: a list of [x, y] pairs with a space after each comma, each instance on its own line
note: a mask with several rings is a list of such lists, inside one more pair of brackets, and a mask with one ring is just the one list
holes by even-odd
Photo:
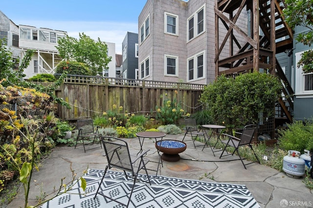
[[[122, 208], [114, 201], [97, 195], [104, 170], [90, 169], [83, 177], [87, 181], [85, 192], [77, 183], [70, 193], [54, 198], [41, 208]], [[134, 208], [260, 208], [245, 185], [210, 183], [164, 176], [149, 176], [149, 183], [137, 181], [129, 207]], [[147, 176], [139, 174], [147, 181]], [[108, 170], [103, 180], [103, 192], [127, 203], [127, 194], [133, 180], [127, 180], [124, 172]], [[75, 193], [75, 194], [73, 194]]]

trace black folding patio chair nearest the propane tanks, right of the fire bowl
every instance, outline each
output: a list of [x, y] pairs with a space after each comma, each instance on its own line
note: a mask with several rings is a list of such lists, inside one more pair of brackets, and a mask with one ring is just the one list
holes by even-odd
[[[260, 163], [260, 160], [259, 160], [258, 156], [255, 154], [255, 151], [253, 150], [252, 145], [251, 145], [251, 142], [252, 142], [252, 139], [253, 139], [256, 127], [257, 127], [257, 125], [246, 125], [242, 133], [236, 132], [237, 134], [241, 135], [240, 138], [231, 136], [229, 134], [222, 134], [222, 135], [228, 137], [228, 140], [222, 140], [221, 141], [222, 143], [225, 144], [225, 147], [223, 149], [223, 152], [222, 152], [220, 158], [224, 157], [224, 156], [227, 156], [227, 155], [234, 155], [234, 153], [236, 151], [238, 156], [239, 156], [239, 158], [240, 158], [240, 160], [241, 160], [241, 162], [243, 163], [245, 169], [246, 169], [246, 165], [249, 165], [249, 164], [255, 163], [255, 162]], [[225, 151], [227, 146], [232, 146], [232, 147], [235, 148], [235, 150], [231, 154], [223, 155], [223, 153], [224, 153], [224, 151]], [[243, 158], [241, 158], [241, 156], [239, 154], [239, 151], [238, 151], [238, 148], [241, 147], [241, 146], [249, 146], [251, 148], [251, 150], [253, 151], [257, 161], [245, 164], [244, 161], [243, 161]]]

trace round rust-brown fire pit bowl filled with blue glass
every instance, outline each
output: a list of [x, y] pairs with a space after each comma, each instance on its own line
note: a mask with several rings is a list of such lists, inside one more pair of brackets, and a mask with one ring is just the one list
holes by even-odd
[[167, 162], [176, 162], [180, 160], [179, 153], [186, 150], [187, 145], [184, 142], [176, 140], [162, 140], [156, 142], [156, 149], [163, 152], [162, 160]]

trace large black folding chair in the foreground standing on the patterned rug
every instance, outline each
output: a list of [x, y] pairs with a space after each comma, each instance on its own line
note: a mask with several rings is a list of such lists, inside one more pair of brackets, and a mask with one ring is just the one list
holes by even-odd
[[[104, 171], [100, 185], [97, 189], [97, 192], [96, 192], [94, 198], [96, 198], [97, 194], [100, 194], [103, 197], [106, 197], [106, 198], [108, 198], [114, 202], [117, 202], [118, 204], [121, 204], [122, 206], [128, 207], [130, 204], [131, 198], [132, 198], [132, 194], [134, 191], [136, 180], [138, 179], [137, 178], [138, 173], [141, 169], [145, 170], [148, 182], [151, 185], [148, 171], [146, 168], [146, 164], [149, 162], [149, 160], [144, 158], [144, 156], [146, 156], [146, 154], [149, 150], [143, 151], [138, 156], [132, 156], [132, 155], [130, 155], [129, 148], [128, 148], [126, 141], [119, 139], [119, 138], [116, 138], [116, 137], [112, 137], [112, 136], [104, 136], [101, 138], [101, 140], [102, 140], [104, 150], [106, 153], [106, 157], [108, 160], [108, 165], [106, 166], [106, 169]], [[100, 187], [102, 186], [103, 179], [107, 173], [107, 170], [111, 169], [112, 167], [123, 170], [126, 178], [131, 177], [134, 179], [133, 187], [132, 187], [130, 194], [128, 196], [127, 204], [120, 202], [116, 199], [113, 199], [112, 196], [107, 196], [104, 193], [102, 193], [102, 191], [99, 191]], [[130, 174], [127, 174], [126, 171], [129, 172]], [[140, 179], [138, 179], [138, 180], [140, 180]], [[103, 185], [105, 185], [105, 183], [103, 183]], [[119, 192], [119, 193], [121, 193], [121, 192]], [[116, 198], [121, 197], [121, 196], [119, 196], [119, 193], [116, 193], [116, 195], [115, 195]]]

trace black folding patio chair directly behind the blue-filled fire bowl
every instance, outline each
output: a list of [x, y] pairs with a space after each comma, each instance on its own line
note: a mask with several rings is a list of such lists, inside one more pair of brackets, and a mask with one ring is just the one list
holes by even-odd
[[[185, 126], [186, 132], [185, 132], [184, 138], [182, 139], [182, 142], [184, 141], [186, 135], [188, 134], [191, 136], [191, 140], [194, 143], [195, 148], [197, 147], [195, 145], [195, 141], [198, 137], [203, 137], [204, 142], [205, 142], [204, 146], [207, 145], [207, 141], [205, 138], [205, 132], [203, 132], [203, 131], [200, 132], [200, 129], [198, 129], [198, 127], [197, 127], [196, 119], [193, 117], [185, 117], [184, 120], [185, 120], [185, 125], [186, 125]], [[187, 141], [189, 141], [189, 140], [187, 140]], [[202, 146], [202, 145], [198, 145], [198, 146]]]

